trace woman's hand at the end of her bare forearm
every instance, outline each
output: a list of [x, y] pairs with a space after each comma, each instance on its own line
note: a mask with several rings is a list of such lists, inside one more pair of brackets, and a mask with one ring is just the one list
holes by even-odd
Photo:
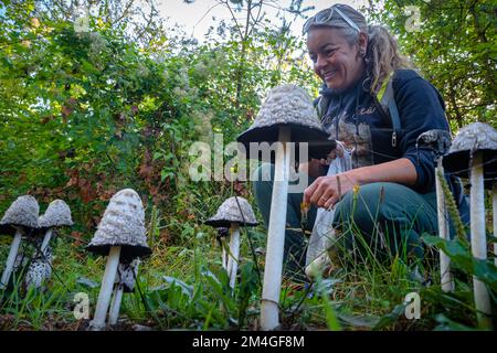
[[320, 176], [304, 191], [304, 203], [329, 208], [357, 184], [350, 172]]

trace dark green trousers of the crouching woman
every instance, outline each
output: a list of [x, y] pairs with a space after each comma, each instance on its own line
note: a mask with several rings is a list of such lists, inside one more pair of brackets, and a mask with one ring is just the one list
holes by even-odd
[[[274, 165], [262, 163], [253, 175], [254, 196], [266, 227], [269, 224]], [[308, 178], [309, 184], [314, 182]], [[311, 206], [303, 224], [303, 193], [289, 193], [285, 234], [285, 276], [304, 276], [306, 235], [316, 222]], [[424, 257], [423, 233], [437, 233], [436, 193], [420, 194], [412, 189], [389, 182], [371, 183], [343, 195], [335, 206], [332, 226], [338, 229], [338, 248], [357, 250], [362, 256]], [[307, 232], [306, 232], [307, 231]]]

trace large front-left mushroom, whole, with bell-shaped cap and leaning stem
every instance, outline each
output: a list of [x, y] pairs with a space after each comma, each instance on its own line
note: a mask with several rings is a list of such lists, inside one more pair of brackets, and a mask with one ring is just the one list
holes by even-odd
[[108, 255], [95, 317], [91, 322], [92, 330], [105, 328], [119, 261], [126, 264], [151, 254], [151, 249], [147, 246], [144, 224], [144, 206], [136, 191], [125, 189], [110, 199], [97, 231], [86, 247], [88, 252]]

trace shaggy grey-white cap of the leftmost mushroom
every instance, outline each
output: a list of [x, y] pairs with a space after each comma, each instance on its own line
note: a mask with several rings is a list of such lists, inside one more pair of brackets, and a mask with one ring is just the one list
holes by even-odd
[[31, 195], [19, 196], [6, 211], [0, 221], [0, 234], [15, 234], [15, 226], [28, 231], [38, 229], [38, 215], [40, 206], [36, 199]]

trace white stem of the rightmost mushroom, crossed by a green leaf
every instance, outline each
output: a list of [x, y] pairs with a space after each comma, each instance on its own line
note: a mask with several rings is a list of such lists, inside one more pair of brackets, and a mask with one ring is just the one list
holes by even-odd
[[[487, 259], [487, 244], [485, 237], [485, 189], [482, 152], [476, 152], [473, 156], [470, 184], [472, 253], [473, 257], [485, 260]], [[478, 324], [482, 328], [491, 328], [489, 317], [491, 314], [491, 308], [487, 288], [475, 276], [473, 276], [473, 287]]]

